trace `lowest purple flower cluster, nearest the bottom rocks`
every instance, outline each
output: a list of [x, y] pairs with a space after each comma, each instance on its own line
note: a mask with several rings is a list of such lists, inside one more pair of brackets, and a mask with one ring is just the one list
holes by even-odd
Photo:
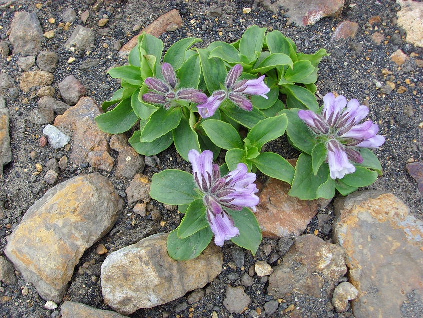
[[190, 150], [188, 158], [192, 164], [194, 180], [203, 194], [214, 242], [223, 246], [225, 240], [239, 235], [238, 228], [225, 209], [242, 210], [243, 207], [249, 207], [255, 211], [259, 202], [255, 195], [258, 189], [253, 183], [256, 175], [247, 172], [247, 166], [240, 163], [235, 170], [220, 177], [219, 166], [213, 164], [213, 153], [209, 150], [201, 154]]

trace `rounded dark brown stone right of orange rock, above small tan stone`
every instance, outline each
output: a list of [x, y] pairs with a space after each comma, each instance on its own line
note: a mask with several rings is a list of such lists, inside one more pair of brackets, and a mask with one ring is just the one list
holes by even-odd
[[116, 166], [116, 178], [132, 179], [137, 173], [144, 170], [145, 163], [141, 155], [139, 155], [132, 147], [125, 147], [118, 156], [118, 164]]

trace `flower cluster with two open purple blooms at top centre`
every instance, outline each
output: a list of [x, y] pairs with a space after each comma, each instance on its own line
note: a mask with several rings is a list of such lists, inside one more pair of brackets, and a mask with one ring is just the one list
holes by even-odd
[[245, 95], [260, 95], [267, 99], [270, 88], [263, 82], [264, 75], [254, 80], [238, 81], [242, 74], [242, 65], [235, 65], [226, 76], [225, 89], [214, 91], [207, 102], [197, 105], [201, 117], [207, 118], [214, 115], [220, 104], [227, 98], [244, 110], [251, 111], [253, 104]]

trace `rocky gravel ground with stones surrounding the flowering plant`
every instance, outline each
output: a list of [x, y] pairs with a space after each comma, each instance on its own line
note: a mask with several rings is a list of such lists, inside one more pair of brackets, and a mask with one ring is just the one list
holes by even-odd
[[[422, 316], [422, 7], [0, 0], [0, 315]], [[166, 49], [187, 36], [233, 42], [253, 24], [280, 30], [299, 51], [328, 50], [318, 96], [368, 105], [386, 137], [375, 149], [384, 174], [332, 202], [299, 201], [259, 176], [257, 254], [226, 243], [175, 262], [165, 233], [181, 215], [151, 200], [149, 182], [190, 164], [173, 147], [140, 156], [131, 134], [97, 129], [97, 104], [119, 88], [106, 72], [125, 64], [144, 28]], [[298, 155], [284, 137], [267, 150]]]

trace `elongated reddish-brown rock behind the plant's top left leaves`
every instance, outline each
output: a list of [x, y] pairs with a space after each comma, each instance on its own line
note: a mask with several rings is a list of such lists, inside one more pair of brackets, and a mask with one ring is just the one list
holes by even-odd
[[167, 26], [172, 23], [177, 24], [178, 28], [182, 26], [182, 18], [179, 15], [178, 10], [176, 9], [172, 9], [164, 15], [161, 15], [147, 27], [143, 28], [138, 35], [133, 37], [131, 40], [128, 41], [128, 43], [126, 43], [123, 47], [120, 48], [119, 54], [121, 56], [127, 55], [129, 51], [131, 51], [138, 44], [138, 37], [142, 35], [143, 32], [151, 34], [158, 38], [162, 33], [166, 32]]

